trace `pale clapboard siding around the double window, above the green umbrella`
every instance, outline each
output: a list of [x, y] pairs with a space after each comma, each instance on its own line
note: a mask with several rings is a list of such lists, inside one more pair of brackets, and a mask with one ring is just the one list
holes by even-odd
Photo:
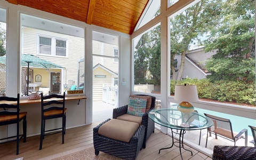
[[[38, 35], [45, 36], [45, 37], [56, 37], [56, 38], [67, 39], [68, 57], [55, 57], [51, 55], [37, 54], [36, 41], [37, 41]], [[64, 70], [63, 72], [64, 79], [61, 83], [65, 84], [65, 83], [68, 83], [68, 80], [74, 80], [75, 84], [77, 84], [77, 60], [84, 58], [84, 39], [83, 38], [24, 27], [23, 39], [24, 39], [23, 53], [35, 54], [36, 56], [41, 57], [42, 59], [51, 61], [62, 67], [65, 67], [67, 69], [67, 79], [66, 79], [66, 71]], [[81, 67], [81, 68], [84, 68], [84, 67]], [[80, 73], [82, 71], [84, 71], [84, 69], [81, 70]]]

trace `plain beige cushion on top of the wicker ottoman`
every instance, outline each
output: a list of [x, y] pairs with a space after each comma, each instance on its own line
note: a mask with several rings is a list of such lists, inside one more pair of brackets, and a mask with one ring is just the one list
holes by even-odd
[[99, 134], [112, 139], [130, 142], [130, 139], [138, 130], [139, 126], [140, 125], [138, 123], [134, 122], [110, 119], [108, 122], [100, 126]]

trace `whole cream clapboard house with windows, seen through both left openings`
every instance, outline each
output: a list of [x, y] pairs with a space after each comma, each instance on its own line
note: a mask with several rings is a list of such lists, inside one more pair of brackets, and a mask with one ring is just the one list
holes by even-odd
[[[84, 38], [22, 27], [22, 39], [22, 54], [34, 54], [65, 67], [65, 69], [31, 68], [33, 71], [31, 71], [30, 77], [33, 77], [31, 78], [33, 82], [30, 83], [36, 83], [35, 76], [41, 75], [41, 87], [50, 87], [50, 90], [53, 91], [52, 84], [58, 80], [59, 93], [70, 89], [71, 85], [79, 86], [84, 83]], [[57, 47], [57, 44], [60, 47]], [[59, 51], [58, 55], [57, 50]], [[118, 84], [118, 59], [108, 58], [118, 57], [118, 46], [93, 41], [93, 54], [99, 55], [93, 57], [93, 100], [102, 100], [103, 86], [114, 87], [115, 84]], [[102, 57], [102, 55], [107, 57]], [[86, 83], [84, 84], [86, 85]], [[23, 84], [23, 86], [26, 85]]]

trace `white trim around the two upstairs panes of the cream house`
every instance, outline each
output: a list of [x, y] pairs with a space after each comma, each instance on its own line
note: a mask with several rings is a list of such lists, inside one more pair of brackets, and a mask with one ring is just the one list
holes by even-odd
[[[52, 47], [51, 47], [51, 53], [52, 54], [41, 54], [41, 53], [39, 53], [39, 37], [45, 37], [45, 38], [51, 38], [52, 39], [52, 44], [51, 44], [52, 45]], [[66, 56], [56, 55], [56, 43], [55, 43], [56, 39], [61, 40], [61, 41], [66, 41]], [[37, 55], [53, 56], [53, 57], [68, 57], [68, 39], [37, 34], [36, 35], [36, 54]]]

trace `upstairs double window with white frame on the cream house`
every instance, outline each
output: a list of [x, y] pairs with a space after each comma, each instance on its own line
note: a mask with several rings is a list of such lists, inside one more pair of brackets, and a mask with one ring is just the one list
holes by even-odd
[[67, 40], [55, 37], [39, 36], [39, 54], [67, 56]]

